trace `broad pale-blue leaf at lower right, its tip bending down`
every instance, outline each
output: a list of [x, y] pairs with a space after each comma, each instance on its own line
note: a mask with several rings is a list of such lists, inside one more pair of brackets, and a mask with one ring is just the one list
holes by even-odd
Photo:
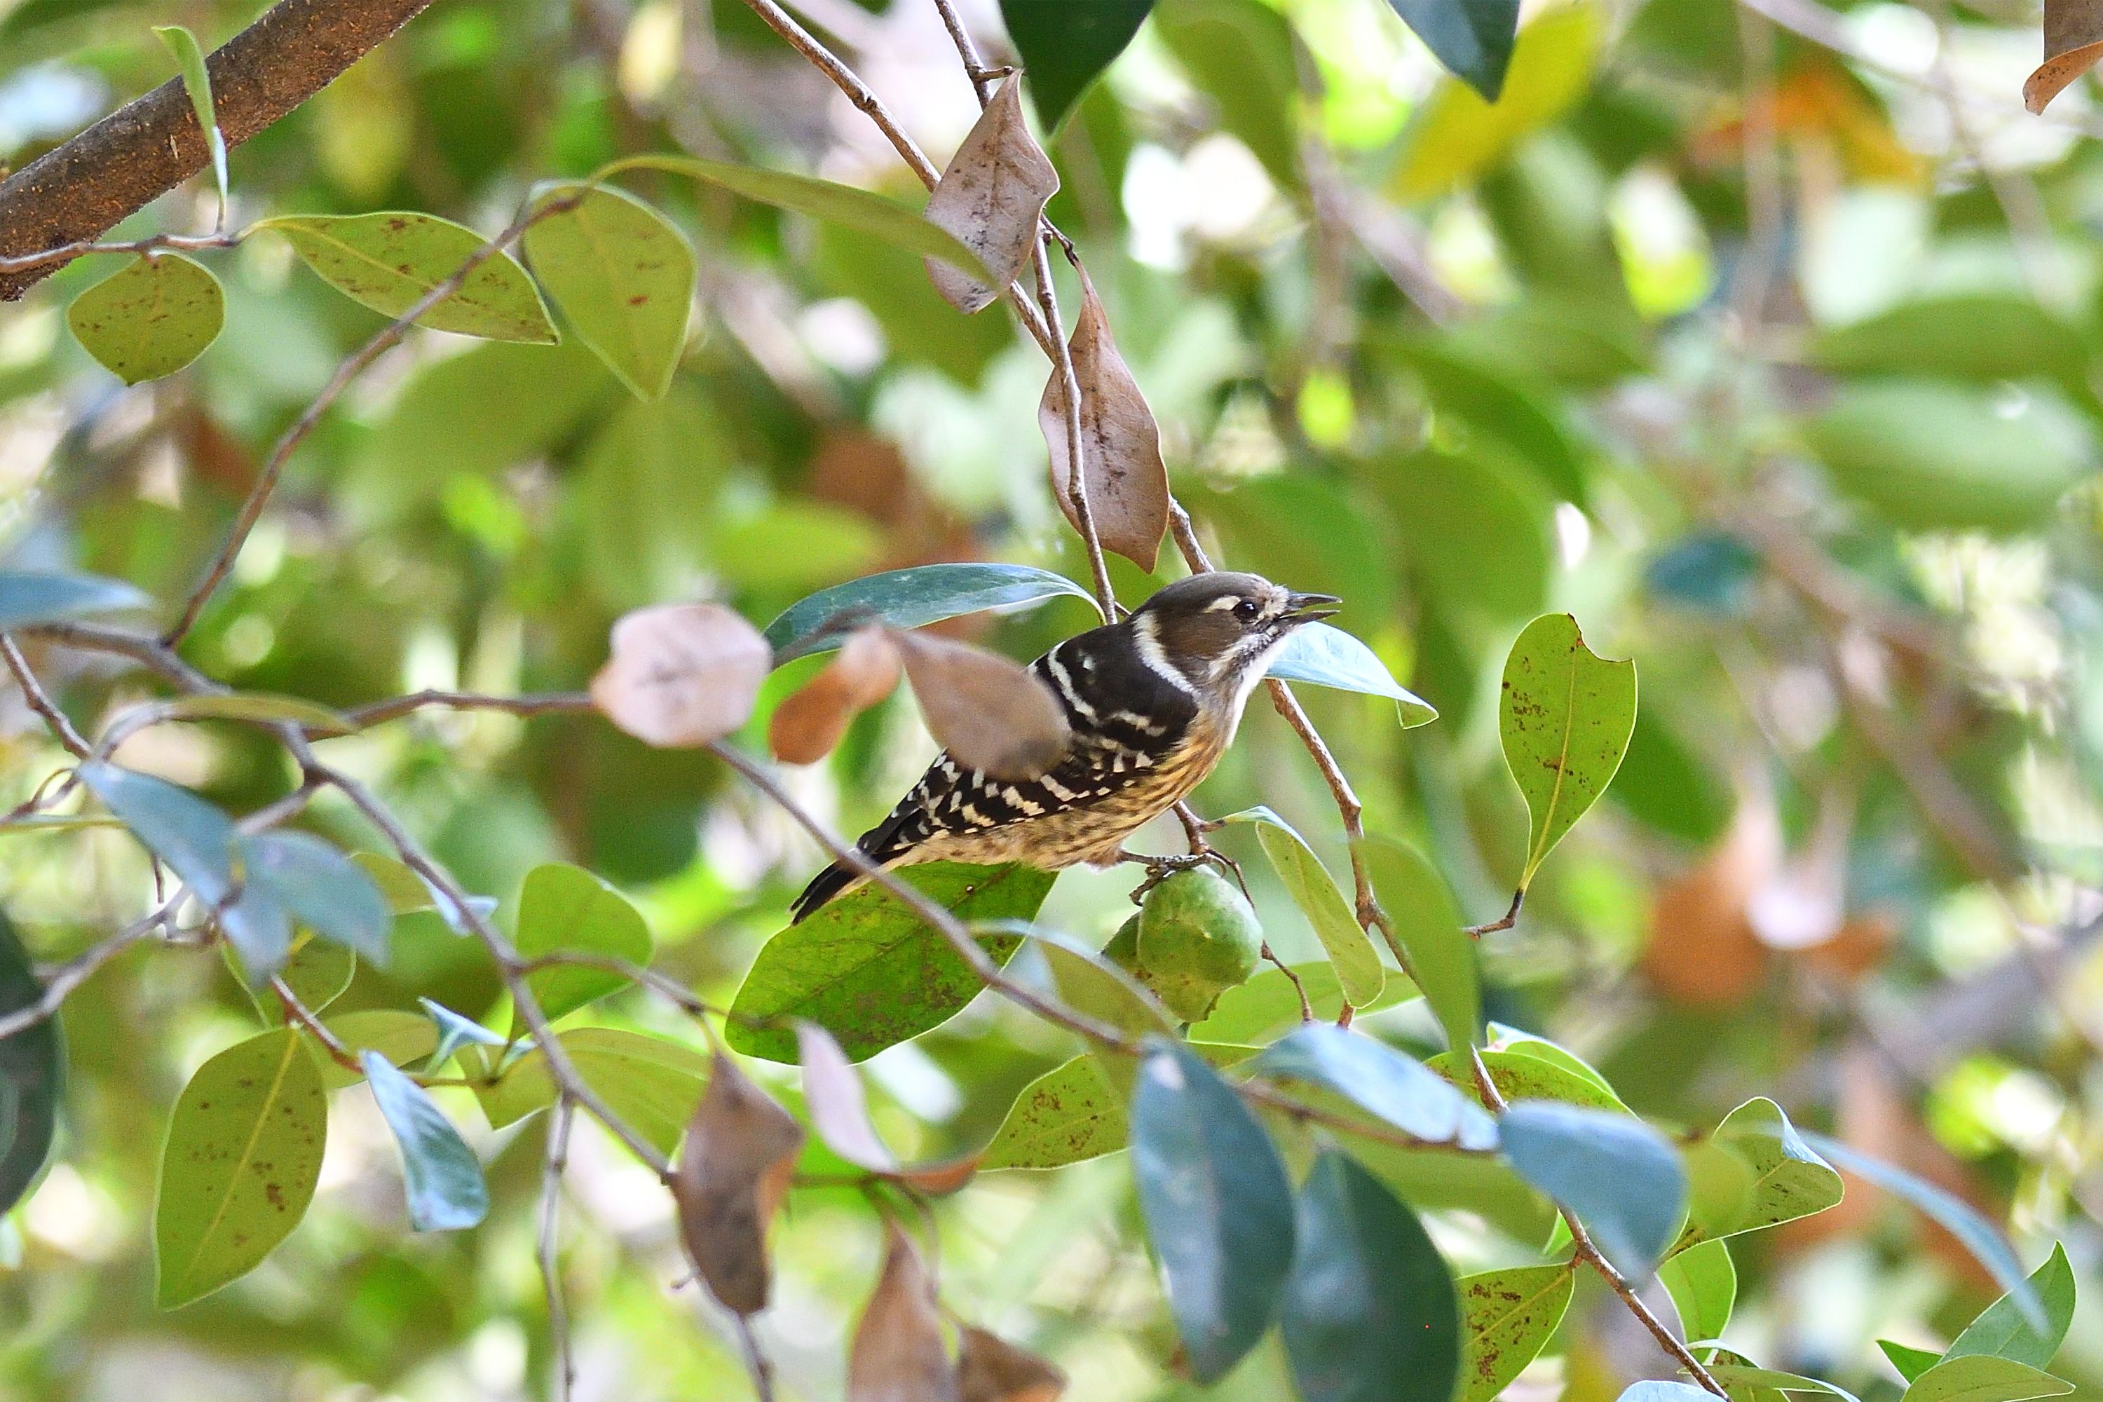
[[1680, 1154], [1642, 1120], [1546, 1099], [1497, 1120], [1518, 1173], [1577, 1213], [1624, 1276], [1647, 1280], [1687, 1211]]

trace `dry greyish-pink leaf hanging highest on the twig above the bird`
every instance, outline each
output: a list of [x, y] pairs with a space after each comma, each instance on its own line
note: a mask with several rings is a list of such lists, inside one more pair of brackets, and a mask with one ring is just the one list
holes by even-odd
[[1058, 191], [1058, 170], [1022, 120], [1022, 76], [1001, 84], [927, 198], [925, 219], [978, 254], [993, 273], [986, 286], [948, 263], [927, 259], [927, 275], [957, 311], [991, 307], [1030, 261], [1037, 221]]

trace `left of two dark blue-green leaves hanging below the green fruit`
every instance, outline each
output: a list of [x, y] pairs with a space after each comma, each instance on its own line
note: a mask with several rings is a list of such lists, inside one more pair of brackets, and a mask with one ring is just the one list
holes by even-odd
[[1293, 1263], [1293, 1194], [1264, 1127], [1188, 1047], [1148, 1043], [1131, 1095], [1131, 1175], [1190, 1375], [1255, 1347]]

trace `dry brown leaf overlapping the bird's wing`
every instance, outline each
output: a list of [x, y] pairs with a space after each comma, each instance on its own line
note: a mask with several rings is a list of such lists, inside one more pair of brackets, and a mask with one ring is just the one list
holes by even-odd
[[965, 769], [1035, 780], [1066, 757], [1073, 729], [1052, 687], [1003, 656], [921, 633], [894, 633], [927, 731]]

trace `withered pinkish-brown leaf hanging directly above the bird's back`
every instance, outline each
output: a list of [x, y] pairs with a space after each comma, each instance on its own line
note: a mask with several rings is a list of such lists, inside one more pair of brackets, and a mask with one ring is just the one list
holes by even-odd
[[[1169, 473], [1161, 462], [1161, 429], [1146, 395], [1117, 353], [1110, 319], [1087, 271], [1081, 271], [1081, 315], [1073, 324], [1073, 378], [1081, 387], [1081, 481], [1087, 513], [1102, 549], [1117, 551], [1140, 570], [1152, 570], [1161, 536], [1169, 530]], [[1052, 368], [1037, 425], [1052, 448], [1052, 494], [1075, 530], [1073, 454], [1066, 444], [1066, 378]]]

